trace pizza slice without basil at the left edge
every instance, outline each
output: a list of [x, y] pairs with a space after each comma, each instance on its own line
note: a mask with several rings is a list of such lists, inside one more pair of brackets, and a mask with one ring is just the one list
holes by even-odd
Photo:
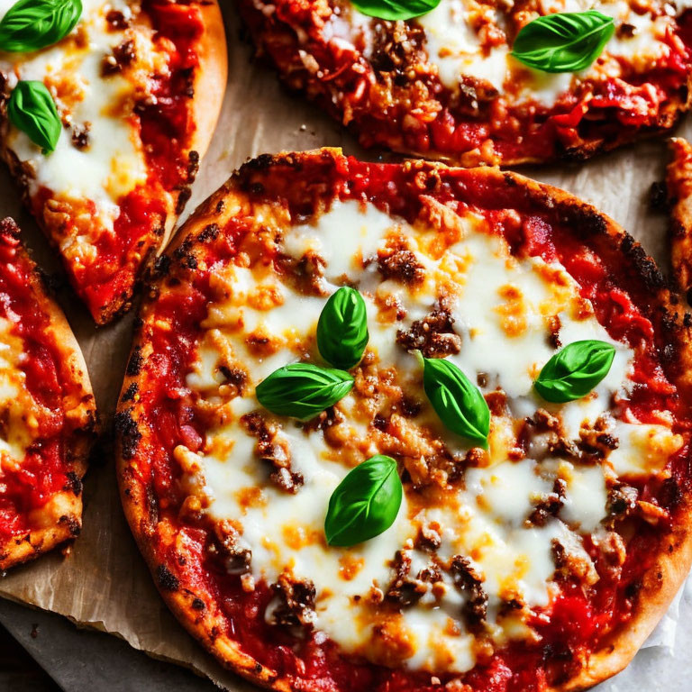
[[87, 366], [68, 321], [0, 221], [0, 570], [77, 537], [96, 437]]

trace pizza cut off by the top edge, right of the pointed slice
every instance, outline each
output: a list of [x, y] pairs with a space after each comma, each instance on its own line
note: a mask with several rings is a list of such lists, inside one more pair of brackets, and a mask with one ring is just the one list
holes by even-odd
[[692, 15], [678, 0], [239, 6], [287, 86], [366, 147], [463, 166], [585, 159], [688, 107]]

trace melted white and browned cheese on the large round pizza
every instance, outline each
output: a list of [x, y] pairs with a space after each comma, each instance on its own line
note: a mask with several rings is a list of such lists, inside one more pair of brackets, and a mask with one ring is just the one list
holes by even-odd
[[[190, 495], [201, 498], [214, 521], [232, 522], [239, 546], [251, 551], [247, 587], [259, 580], [274, 584], [282, 575], [309, 579], [316, 592], [311, 622], [342, 651], [431, 672], [462, 672], [477, 660], [478, 639], [463, 615], [473, 604], [468, 589], [455, 584], [455, 556], [468, 560], [482, 579], [483, 627], [491, 641], [530, 637], [526, 615], [549, 605], [558, 590], [556, 544], [579, 565], [582, 578], [597, 579], [582, 535], [605, 532], [608, 484], [659, 472], [680, 445], [663, 425], [611, 417], [612, 398], [626, 397], [633, 387], [633, 351], [610, 338], [566, 270], [540, 258], [514, 258], [481, 216], [452, 216], [442, 232], [428, 223], [409, 225], [374, 205], [336, 201], [312, 223], [280, 229], [284, 256], [323, 259], [323, 296], [301, 293], [259, 261], [212, 269], [212, 286], [223, 298], [209, 306], [187, 386], [207, 414], [216, 411], [217, 423], [202, 451], [181, 446], [175, 452]], [[378, 270], [378, 257], [392, 243], [407, 248], [423, 268], [415, 286]], [[308, 356], [320, 362], [316, 323], [326, 296], [344, 283], [359, 288], [368, 308], [369, 367], [389, 373], [381, 380], [389, 385], [394, 372], [397, 386], [422, 404], [413, 417], [391, 413], [387, 428], [418, 487], [405, 482], [394, 524], [349, 549], [326, 545], [324, 515], [333, 489], [354, 465], [389, 452], [383, 445], [391, 439], [372, 424], [375, 411], [386, 408], [384, 384], [370, 395], [354, 389], [335, 405], [341, 422], [324, 431], [263, 412], [277, 426], [272, 443], [287, 451], [290, 470], [303, 479], [295, 494], [269, 478], [257, 441], [241, 421], [261, 411], [254, 387], [271, 371]], [[460, 338], [460, 350], [449, 360], [472, 380], [479, 378], [488, 396], [499, 389], [506, 400], [505, 413], [492, 416], [487, 454], [476, 462], [467, 461], [469, 442], [446, 430], [425, 403], [417, 361], [396, 341], [399, 330], [411, 328], [440, 299]], [[401, 319], [392, 317], [392, 305]], [[533, 392], [533, 379], [555, 352], [551, 330], [562, 344], [599, 339], [615, 346], [613, 366], [591, 395], [556, 405]], [[262, 337], [265, 351], [258, 353], [255, 336]], [[242, 396], [227, 395], [223, 369], [231, 367], [247, 371]], [[526, 417], [539, 414], [554, 416], [568, 443], [605, 424], [619, 446], [601, 463], [587, 465], [556, 458], [537, 435], [523, 453], [517, 435]], [[459, 465], [460, 480], [426, 467], [440, 445]], [[559, 511], [530, 520], [560, 483]], [[436, 535], [432, 551], [420, 542], [421, 532]], [[379, 608], [397, 552], [410, 560], [405, 576], [418, 578], [424, 593], [414, 605]], [[434, 565], [441, 568], [437, 582], [421, 581], [421, 570]], [[508, 615], [504, 605], [511, 601], [520, 609]]]

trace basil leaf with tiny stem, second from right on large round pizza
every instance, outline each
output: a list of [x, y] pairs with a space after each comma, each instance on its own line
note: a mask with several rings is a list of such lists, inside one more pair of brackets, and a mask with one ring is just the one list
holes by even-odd
[[423, 361], [425, 396], [442, 423], [487, 449], [490, 409], [480, 389], [450, 360], [418, 357]]

